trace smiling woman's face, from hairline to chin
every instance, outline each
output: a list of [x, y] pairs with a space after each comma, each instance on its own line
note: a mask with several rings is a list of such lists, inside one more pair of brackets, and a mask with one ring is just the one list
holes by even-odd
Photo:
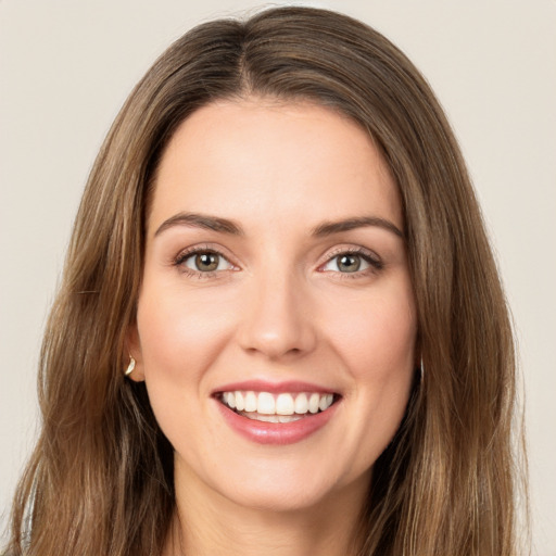
[[403, 227], [372, 141], [328, 109], [223, 101], [181, 124], [129, 333], [177, 484], [282, 509], [368, 486], [415, 369]]

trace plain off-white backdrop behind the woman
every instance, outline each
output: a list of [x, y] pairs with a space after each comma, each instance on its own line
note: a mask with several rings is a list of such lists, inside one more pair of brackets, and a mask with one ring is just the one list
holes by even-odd
[[[36, 437], [36, 364], [48, 307], [112, 119], [186, 29], [282, 3], [0, 0], [1, 527]], [[429, 79], [455, 128], [516, 323], [534, 554], [554, 556], [556, 1], [304, 3], [354, 15], [392, 39]]]

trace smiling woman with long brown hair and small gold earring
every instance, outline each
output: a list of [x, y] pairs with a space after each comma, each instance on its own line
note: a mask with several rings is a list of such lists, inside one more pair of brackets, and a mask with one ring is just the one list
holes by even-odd
[[410, 62], [323, 10], [201, 25], [91, 172], [11, 552], [515, 554], [514, 367]]

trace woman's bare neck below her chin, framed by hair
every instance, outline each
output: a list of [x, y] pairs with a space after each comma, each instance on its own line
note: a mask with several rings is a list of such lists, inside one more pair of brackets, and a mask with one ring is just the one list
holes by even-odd
[[177, 510], [163, 555], [355, 555], [367, 486], [366, 477], [312, 506], [274, 510], [240, 506], [206, 485], [176, 480]]

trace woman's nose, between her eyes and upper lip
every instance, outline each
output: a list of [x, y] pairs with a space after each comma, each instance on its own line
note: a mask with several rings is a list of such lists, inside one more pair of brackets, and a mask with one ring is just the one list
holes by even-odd
[[248, 288], [238, 341], [243, 350], [269, 359], [311, 353], [317, 342], [311, 303], [292, 274], [264, 273]]

